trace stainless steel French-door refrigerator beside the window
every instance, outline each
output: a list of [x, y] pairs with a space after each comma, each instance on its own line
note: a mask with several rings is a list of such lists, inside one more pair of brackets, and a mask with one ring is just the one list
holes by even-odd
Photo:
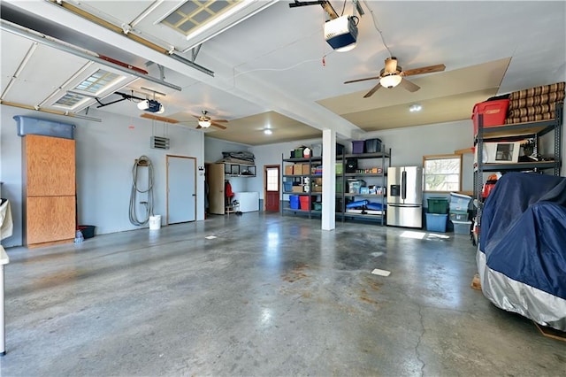
[[423, 227], [423, 168], [387, 169], [387, 225]]

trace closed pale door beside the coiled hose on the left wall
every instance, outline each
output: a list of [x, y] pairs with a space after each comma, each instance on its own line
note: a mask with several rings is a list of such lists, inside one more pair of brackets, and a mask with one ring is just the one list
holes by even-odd
[[196, 160], [167, 156], [167, 224], [196, 219]]

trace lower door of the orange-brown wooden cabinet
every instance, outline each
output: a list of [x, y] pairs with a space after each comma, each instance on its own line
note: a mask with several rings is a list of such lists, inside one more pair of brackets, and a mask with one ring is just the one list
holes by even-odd
[[26, 200], [26, 243], [72, 240], [74, 196], [32, 196]]

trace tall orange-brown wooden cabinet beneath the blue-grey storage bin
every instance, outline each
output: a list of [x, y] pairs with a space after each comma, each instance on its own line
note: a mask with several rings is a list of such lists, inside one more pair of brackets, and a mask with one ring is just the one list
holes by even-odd
[[74, 140], [25, 135], [22, 142], [24, 242], [30, 248], [73, 242]]

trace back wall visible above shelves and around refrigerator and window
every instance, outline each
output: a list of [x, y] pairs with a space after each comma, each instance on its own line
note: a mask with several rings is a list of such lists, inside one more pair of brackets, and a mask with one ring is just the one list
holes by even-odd
[[[441, 123], [436, 125], [403, 127], [363, 134], [362, 139], [379, 137], [386, 147], [391, 147], [392, 166], [423, 165], [424, 155], [452, 154], [455, 150], [463, 150], [473, 145], [473, 129], [471, 120]], [[256, 156], [256, 165], [280, 165], [281, 156], [288, 158], [290, 150], [297, 145], [311, 145], [322, 142], [321, 139], [310, 139], [301, 142], [280, 142], [276, 144], [250, 147]], [[348, 153], [352, 151], [352, 142], [344, 142]], [[463, 190], [473, 188], [472, 173], [473, 156], [463, 156]], [[256, 179], [249, 182], [250, 191], [259, 191], [263, 198], [263, 181]]]

